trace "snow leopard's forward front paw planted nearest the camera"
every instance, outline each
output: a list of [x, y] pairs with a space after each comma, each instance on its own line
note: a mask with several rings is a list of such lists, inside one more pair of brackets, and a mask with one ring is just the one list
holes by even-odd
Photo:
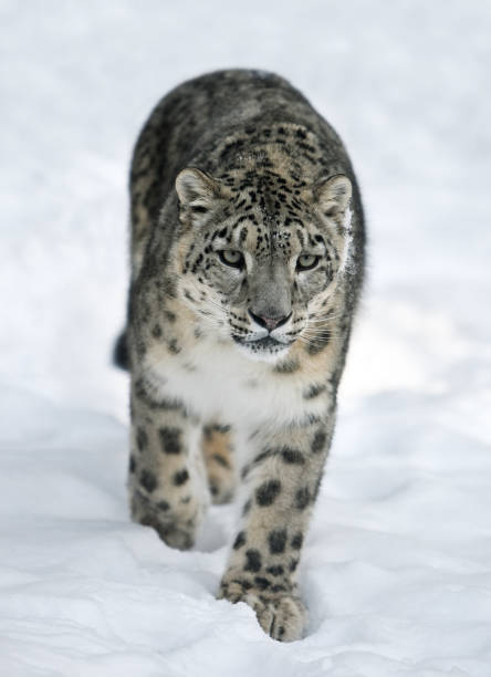
[[258, 590], [244, 581], [222, 581], [218, 598], [233, 604], [245, 602], [254, 610], [262, 629], [273, 639], [294, 642], [303, 637], [307, 613], [294, 594]]

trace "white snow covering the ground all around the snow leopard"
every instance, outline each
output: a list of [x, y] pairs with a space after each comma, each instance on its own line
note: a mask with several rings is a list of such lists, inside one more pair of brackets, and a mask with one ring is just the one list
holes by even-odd
[[[0, 2], [0, 675], [491, 675], [491, 8]], [[126, 176], [170, 86], [290, 77], [358, 170], [369, 279], [306, 541], [305, 639], [215, 591], [231, 535], [128, 521]]]

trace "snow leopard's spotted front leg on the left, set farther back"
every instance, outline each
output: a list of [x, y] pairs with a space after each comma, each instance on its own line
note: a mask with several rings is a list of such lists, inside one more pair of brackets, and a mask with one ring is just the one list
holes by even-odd
[[143, 378], [132, 379], [132, 517], [180, 550], [194, 544], [210, 501], [200, 433], [179, 403], [156, 397]]

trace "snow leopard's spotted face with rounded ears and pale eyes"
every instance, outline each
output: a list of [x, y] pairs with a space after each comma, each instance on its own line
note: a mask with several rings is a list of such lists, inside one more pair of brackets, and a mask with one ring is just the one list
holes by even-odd
[[323, 317], [347, 253], [351, 183], [336, 176], [302, 189], [264, 169], [247, 178], [218, 180], [197, 169], [178, 176], [188, 226], [181, 293], [251, 357], [274, 360], [299, 340], [323, 345]]

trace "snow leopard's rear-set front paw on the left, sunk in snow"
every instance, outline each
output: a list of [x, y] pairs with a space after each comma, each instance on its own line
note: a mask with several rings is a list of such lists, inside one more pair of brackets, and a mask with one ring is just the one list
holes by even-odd
[[138, 490], [130, 497], [132, 518], [145, 527], [153, 527], [160, 539], [170, 548], [189, 550], [195, 544], [200, 522], [200, 511], [192, 500], [180, 506], [176, 513], [167, 501], [152, 501]]

